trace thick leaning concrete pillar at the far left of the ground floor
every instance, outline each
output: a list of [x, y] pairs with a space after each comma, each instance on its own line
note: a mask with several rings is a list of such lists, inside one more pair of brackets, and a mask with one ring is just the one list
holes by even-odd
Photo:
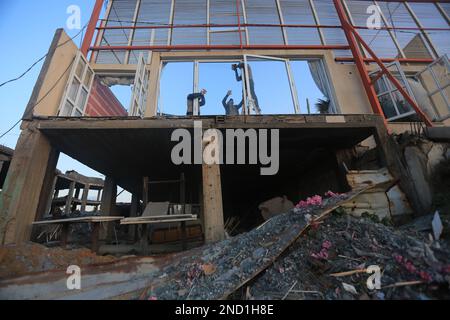
[[32, 223], [47, 207], [58, 157], [33, 123], [22, 131], [0, 196], [1, 244], [30, 240]]

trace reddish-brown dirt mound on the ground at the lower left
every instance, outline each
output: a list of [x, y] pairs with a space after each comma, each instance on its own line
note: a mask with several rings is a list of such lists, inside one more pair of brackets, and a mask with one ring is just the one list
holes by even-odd
[[64, 250], [35, 243], [0, 247], [0, 279], [27, 273], [66, 269], [70, 265], [90, 265], [114, 261], [88, 249]]

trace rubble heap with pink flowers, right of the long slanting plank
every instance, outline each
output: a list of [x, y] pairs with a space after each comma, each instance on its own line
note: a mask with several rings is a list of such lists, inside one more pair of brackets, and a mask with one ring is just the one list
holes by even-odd
[[[248, 292], [254, 299], [449, 299], [449, 257], [446, 241], [437, 245], [411, 229], [334, 214], [300, 238]], [[380, 290], [367, 287], [371, 274], [365, 270], [373, 265], [381, 269]]]

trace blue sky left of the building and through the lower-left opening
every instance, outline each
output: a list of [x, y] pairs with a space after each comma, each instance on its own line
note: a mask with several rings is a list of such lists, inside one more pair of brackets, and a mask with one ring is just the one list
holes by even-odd
[[[65, 28], [69, 36], [79, 30], [68, 30], [67, 8], [78, 5], [81, 9], [81, 25], [89, 21], [94, 0], [0, 0], [0, 82], [15, 78], [47, 51], [57, 28]], [[74, 41], [79, 44], [81, 37]], [[19, 120], [33, 91], [43, 62], [22, 79], [0, 87], [0, 132], [9, 129]], [[20, 128], [16, 127], [0, 144], [15, 148]], [[98, 173], [62, 155], [58, 168], [75, 169], [81, 173], [98, 176]]]

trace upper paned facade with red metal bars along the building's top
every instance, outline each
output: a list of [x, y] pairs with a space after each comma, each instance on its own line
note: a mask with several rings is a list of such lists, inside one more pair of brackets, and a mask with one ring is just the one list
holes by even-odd
[[[381, 58], [450, 54], [449, 3], [343, 3], [351, 23]], [[371, 6], [380, 13], [377, 29], [367, 27]], [[150, 49], [261, 45], [348, 44], [332, 0], [112, 0], [100, 28], [96, 47], [103, 50], [96, 62], [135, 64], [139, 54], [148, 57]], [[107, 50], [110, 47], [114, 49]], [[351, 56], [348, 50], [335, 54]]]

